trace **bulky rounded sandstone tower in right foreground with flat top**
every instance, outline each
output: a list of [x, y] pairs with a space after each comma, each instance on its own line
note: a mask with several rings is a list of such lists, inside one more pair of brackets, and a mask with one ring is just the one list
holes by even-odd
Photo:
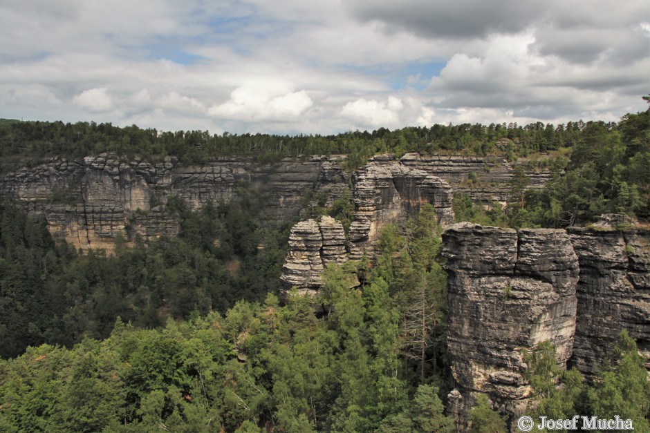
[[449, 354], [458, 389], [449, 410], [461, 430], [476, 393], [521, 414], [530, 395], [524, 353], [545, 340], [561, 367], [573, 353], [578, 259], [563, 230], [463, 222], [443, 233]]

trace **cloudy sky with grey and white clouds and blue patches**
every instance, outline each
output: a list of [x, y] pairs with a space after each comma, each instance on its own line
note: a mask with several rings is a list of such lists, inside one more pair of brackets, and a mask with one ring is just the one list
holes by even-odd
[[0, 0], [0, 117], [212, 133], [618, 120], [647, 0]]

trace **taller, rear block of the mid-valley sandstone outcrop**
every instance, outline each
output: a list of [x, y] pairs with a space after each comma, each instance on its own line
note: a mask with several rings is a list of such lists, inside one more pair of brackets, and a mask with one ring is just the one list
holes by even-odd
[[367, 253], [381, 229], [414, 218], [425, 203], [432, 204], [440, 224], [452, 224], [452, 189], [440, 177], [411, 169], [387, 155], [378, 155], [352, 176], [354, 220], [350, 226], [351, 258]]

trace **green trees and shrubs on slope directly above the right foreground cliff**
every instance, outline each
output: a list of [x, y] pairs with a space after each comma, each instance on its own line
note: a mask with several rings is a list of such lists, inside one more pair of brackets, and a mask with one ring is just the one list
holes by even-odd
[[457, 195], [457, 220], [557, 228], [595, 222], [602, 213], [650, 218], [650, 109], [625, 115], [614, 128], [586, 124], [567, 151], [548, 160], [553, 177], [541, 190], [526, 189], [525, 165], [515, 166], [506, 206], [483, 209]]

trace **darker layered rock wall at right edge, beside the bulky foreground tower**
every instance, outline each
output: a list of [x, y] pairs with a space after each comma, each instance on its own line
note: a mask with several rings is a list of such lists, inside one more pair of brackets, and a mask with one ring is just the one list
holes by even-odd
[[595, 226], [568, 233], [580, 262], [572, 362], [593, 374], [623, 329], [650, 359], [650, 231]]

